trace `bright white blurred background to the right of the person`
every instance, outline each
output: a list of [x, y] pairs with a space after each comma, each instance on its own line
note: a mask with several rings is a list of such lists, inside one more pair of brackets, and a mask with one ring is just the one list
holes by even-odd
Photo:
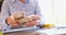
[[66, 26], [66, 0], [38, 0], [44, 23]]

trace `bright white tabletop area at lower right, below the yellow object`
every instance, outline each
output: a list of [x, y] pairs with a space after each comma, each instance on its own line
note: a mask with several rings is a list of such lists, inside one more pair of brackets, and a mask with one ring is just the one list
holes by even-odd
[[45, 33], [47, 35], [57, 35], [57, 34], [66, 34], [66, 28], [48, 28], [48, 30], [40, 30], [36, 32]]

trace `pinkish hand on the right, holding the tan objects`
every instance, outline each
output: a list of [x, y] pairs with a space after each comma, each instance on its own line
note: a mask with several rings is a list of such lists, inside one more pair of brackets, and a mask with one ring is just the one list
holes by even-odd
[[26, 25], [28, 27], [31, 27], [31, 26], [36, 26], [38, 23], [40, 23], [40, 16], [34, 15], [34, 16], [32, 16], [32, 21], [26, 22], [25, 25]]

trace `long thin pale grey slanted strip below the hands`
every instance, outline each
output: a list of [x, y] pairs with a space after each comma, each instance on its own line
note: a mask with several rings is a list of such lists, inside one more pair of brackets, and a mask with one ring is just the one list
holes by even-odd
[[15, 28], [15, 30], [3, 31], [2, 33], [23, 32], [23, 31], [36, 31], [36, 30], [40, 30], [40, 28], [38, 27]]

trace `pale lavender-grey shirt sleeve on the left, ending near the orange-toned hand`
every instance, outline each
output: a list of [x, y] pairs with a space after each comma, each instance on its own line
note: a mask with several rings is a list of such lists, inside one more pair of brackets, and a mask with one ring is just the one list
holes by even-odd
[[9, 25], [6, 23], [6, 19], [9, 16], [9, 7], [8, 1], [4, 0], [2, 8], [1, 8], [1, 14], [0, 14], [0, 26], [2, 30], [9, 30]]

